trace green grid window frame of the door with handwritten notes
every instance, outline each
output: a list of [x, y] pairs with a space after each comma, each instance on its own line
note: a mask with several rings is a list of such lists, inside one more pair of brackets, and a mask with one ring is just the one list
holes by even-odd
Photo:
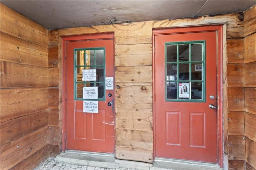
[[[96, 64], [96, 50], [101, 50], [103, 49], [103, 65], [95, 65]], [[84, 61], [85, 65], [77, 65], [77, 51], [84, 51], [84, 54], [86, 56], [86, 51], [87, 50], [94, 50], [94, 65], [86, 65], [86, 61]], [[86, 57], [84, 57], [84, 60], [86, 60]], [[96, 67], [103, 67], [103, 76], [104, 80], [103, 81], [77, 81], [77, 68], [78, 67], [93, 67], [96, 69]], [[74, 49], [74, 100], [94, 100], [94, 101], [105, 101], [105, 47], [96, 47], [96, 48], [75, 48]], [[94, 86], [91, 87], [96, 87], [96, 83], [103, 83], [104, 86], [104, 98], [97, 98], [97, 99], [86, 99], [86, 98], [77, 98], [77, 83], [84, 83], [85, 86], [87, 83], [94, 83]]]

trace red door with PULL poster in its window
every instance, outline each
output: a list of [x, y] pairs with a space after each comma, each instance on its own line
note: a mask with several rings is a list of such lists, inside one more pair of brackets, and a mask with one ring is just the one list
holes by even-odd
[[155, 155], [216, 163], [217, 33], [178, 31], [155, 35]]

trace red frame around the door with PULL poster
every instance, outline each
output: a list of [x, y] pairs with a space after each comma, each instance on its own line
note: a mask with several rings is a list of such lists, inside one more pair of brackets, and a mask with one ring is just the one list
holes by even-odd
[[[195, 32], [217, 32], [217, 164], [223, 168], [224, 166], [224, 119], [223, 119], [223, 87], [224, 76], [223, 71], [223, 24], [222, 25], [201, 25], [191, 27], [173, 27], [163, 29], [153, 29], [152, 31], [152, 80], [153, 80], [153, 159], [155, 159], [156, 140], [155, 140], [155, 36], [169, 35], [180, 33]], [[226, 38], [226, 37], [224, 37]]]

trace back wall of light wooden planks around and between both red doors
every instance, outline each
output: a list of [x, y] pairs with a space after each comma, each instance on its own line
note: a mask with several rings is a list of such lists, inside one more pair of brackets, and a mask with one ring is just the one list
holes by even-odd
[[[118, 159], [152, 162], [152, 29], [213, 23], [226, 23], [224, 30], [226, 31], [225, 35], [227, 40], [224, 39], [224, 49], [227, 48], [227, 53], [224, 53], [224, 62], [228, 63], [228, 65], [224, 64], [224, 99], [226, 99], [228, 92], [228, 101], [224, 101], [225, 155], [227, 156], [230, 151], [230, 165], [233, 160], [237, 160], [238, 162], [241, 160], [244, 164], [245, 150], [241, 152], [240, 156], [238, 153], [240, 150], [239, 148], [237, 149], [237, 146], [240, 147], [240, 143], [245, 143], [243, 139], [244, 126], [242, 126], [245, 115], [243, 90], [244, 35], [242, 14], [237, 13], [202, 16], [191, 19], [145, 21], [50, 30], [49, 50], [52, 49], [54, 54], [50, 55], [49, 53], [49, 66], [52, 67], [52, 73], [49, 74], [49, 76], [53, 77], [59, 75], [59, 88], [62, 89], [62, 36], [114, 31], [116, 84], [115, 155]], [[58, 51], [59, 59], [57, 57]], [[226, 71], [227, 67], [228, 72]], [[50, 83], [54, 84], [54, 86], [58, 86], [58, 81], [54, 78], [49, 78], [49, 80], [52, 80]], [[227, 84], [228, 91], [226, 88]], [[60, 89], [56, 91], [59, 93], [59, 103], [62, 101], [62, 91]], [[234, 117], [232, 121], [228, 122], [231, 143], [227, 141], [227, 109], [229, 109], [229, 116]], [[55, 122], [57, 123], [59, 120], [58, 130], [61, 132], [61, 105], [59, 105], [59, 118], [57, 117], [57, 113], [55, 115]], [[235, 132], [236, 129], [240, 127], [242, 127], [242, 130]], [[54, 138], [58, 138], [58, 136], [54, 136]], [[62, 138], [59, 137], [58, 140], [59, 143], [61, 143]], [[239, 156], [234, 158], [236, 155]]]

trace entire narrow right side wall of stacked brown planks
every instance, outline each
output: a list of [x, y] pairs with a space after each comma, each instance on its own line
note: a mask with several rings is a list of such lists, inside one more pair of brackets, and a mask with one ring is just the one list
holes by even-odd
[[244, 106], [246, 169], [256, 169], [256, 5], [244, 13]]

